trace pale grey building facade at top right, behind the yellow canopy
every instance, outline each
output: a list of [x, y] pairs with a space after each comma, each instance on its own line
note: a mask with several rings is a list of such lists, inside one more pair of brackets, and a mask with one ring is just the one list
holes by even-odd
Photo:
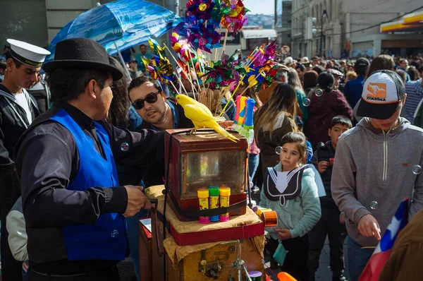
[[407, 45], [421, 44], [423, 30], [389, 34], [380, 25], [420, 6], [421, 0], [293, 0], [293, 56], [377, 56], [392, 49], [405, 56]]

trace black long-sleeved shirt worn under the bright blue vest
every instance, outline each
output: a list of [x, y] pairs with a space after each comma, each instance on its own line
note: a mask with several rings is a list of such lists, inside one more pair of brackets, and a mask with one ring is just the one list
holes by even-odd
[[[60, 109], [92, 138], [93, 153], [103, 154], [93, 120], [71, 104], [61, 102], [40, 115], [16, 145], [16, 169], [21, 179], [30, 267], [43, 273], [78, 274], [109, 268], [117, 261], [68, 261], [62, 228], [94, 224], [102, 213], [124, 213], [128, 195], [123, 186], [92, 186], [70, 191], [78, 174], [80, 157], [67, 128], [50, 120]], [[116, 164], [143, 167], [164, 159], [164, 133], [133, 133], [100, 121], [109, 133]], [[128, 150], [122, 145], [128, 146]], [[106, 175], [105, 175], [106, 176]], [[108, 186], [104, 186], [108, 187]]]

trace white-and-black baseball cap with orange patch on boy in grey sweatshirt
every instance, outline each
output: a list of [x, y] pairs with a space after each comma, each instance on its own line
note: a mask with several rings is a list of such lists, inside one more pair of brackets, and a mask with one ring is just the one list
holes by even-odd
[[397, 73], [389, 70], [376, 71], [364, 83], [357, 115], [388, 119], [404, 96], [405, 86]]

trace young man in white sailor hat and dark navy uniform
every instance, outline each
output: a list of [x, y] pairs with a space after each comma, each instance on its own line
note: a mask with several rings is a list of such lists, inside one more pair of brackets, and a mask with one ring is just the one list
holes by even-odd
[[18, 40], [7, 42], [11, 48], [5, 54], [6, 74], [0, 84], [0, 249], [3, 281], [16, 281], [22, 280], [22, 262], [13, 258], [6, 230], [6, 215], [20, 196], [13, 148], [39, 114], [34, 98], [25, 89], [37, 82], [45, 56], [50, 52]]

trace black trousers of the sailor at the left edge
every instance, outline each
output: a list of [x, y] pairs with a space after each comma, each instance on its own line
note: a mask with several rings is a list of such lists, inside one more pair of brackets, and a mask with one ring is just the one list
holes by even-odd
[[16, 196], [0, 186], [0, 220], [1, 220], [1, 278], [3, 281], [22, 281], [22, 261], [13, 258], [8, 246], [8, 232], [6, 229], [6, 216], [15, 204]]

